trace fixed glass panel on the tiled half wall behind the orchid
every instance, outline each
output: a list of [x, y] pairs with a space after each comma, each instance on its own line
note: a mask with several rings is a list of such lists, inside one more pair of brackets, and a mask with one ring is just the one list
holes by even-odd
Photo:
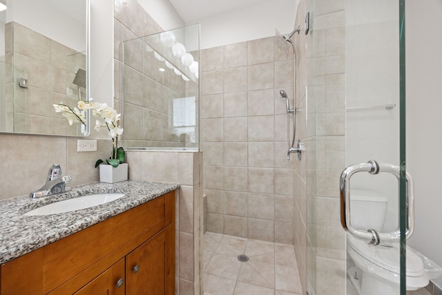
[[123, 43], [125, 149], [198, 149], [199, 25]]

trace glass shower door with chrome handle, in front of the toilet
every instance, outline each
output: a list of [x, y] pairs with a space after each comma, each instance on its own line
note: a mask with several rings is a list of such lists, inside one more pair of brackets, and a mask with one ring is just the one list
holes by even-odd
[[405, 240], [413, 222], [405, 172], [404, 9], [403, 0], [345, 1], [346, 294], [406, 292]]

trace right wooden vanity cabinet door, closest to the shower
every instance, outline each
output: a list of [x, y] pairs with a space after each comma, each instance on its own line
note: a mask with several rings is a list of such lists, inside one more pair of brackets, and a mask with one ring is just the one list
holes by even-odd
[[175, 238], [171, 231], [173, 227], [166, 227], [126, 256], [126, 294], [175, 292], [175, 263], [171, 263], [171, 258], [175, 257]]

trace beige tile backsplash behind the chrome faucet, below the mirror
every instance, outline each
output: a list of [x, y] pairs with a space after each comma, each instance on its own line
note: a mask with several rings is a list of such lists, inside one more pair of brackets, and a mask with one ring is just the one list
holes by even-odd
[[0, 134], [0, 199], [41, 188], [52, 164], [72, 176], [71, 186], [97, 181], [95, 161], [110, 151], [109, 140], [99, 140], [97, 152], [78, 153], [76, 137]]

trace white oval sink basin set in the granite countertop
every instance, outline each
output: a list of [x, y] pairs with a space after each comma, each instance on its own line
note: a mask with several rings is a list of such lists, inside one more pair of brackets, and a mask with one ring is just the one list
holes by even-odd
[[88, 195], [47, 204], [45, 206], [26, 212], [23, 215], [41, 216], [48, 214], [65, 213], [79, 209], [94, 207], [99, 204], [106, 204], [124, 196], [126, 196], [124, 193], [97, 193], [95, 195]]

